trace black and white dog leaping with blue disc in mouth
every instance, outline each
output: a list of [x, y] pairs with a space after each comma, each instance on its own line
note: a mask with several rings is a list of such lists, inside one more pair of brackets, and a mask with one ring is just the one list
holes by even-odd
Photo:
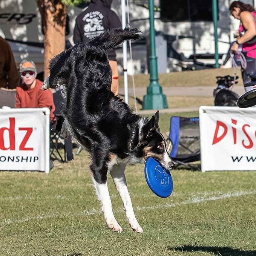
[[67, 130], [90, 153], [92, 180], [104, 218], [107, 226], [119, 233], [122, 228], [113, 215], [107, 174], [112, 176], [130, 227], [141, 233], [127, 189], [126, 164], [144, 163], [151, 156], [167, 169], [174, 166], [159, 131], [159, 112], [150, 120], [140, 117], [110, 90], [112, 72], [107, 49], [139, 37], [138, 29], [115, 29], [76, 44], [50, 61], [51, 74], [42, 87], [64, 86]]

